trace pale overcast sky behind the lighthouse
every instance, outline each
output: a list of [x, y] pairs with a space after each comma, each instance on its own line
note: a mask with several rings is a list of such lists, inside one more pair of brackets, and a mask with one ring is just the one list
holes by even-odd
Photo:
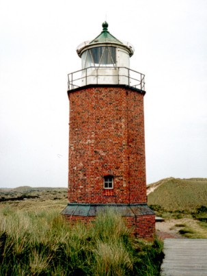
[[207, 177], [206, 0], [0, 0], [0, 187], [68, 186], [67, 75], [102, 31], [146, 74], [147, 183]]

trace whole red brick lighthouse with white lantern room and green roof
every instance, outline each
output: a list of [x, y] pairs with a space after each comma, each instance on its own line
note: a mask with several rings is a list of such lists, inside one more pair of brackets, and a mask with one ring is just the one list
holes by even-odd
[[108, 32], [77, 48], [82, 69], [68, 75], [70, 101], [68, 221], [94, 221], [113, 208], [139, 238], [154, 234], [147, 205], [144, 75], [133, 71], [132, 45]]

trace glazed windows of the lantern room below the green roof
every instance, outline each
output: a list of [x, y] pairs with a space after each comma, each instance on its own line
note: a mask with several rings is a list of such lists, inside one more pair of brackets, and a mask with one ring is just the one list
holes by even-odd
[[82, 68], [115, 67], [115, 47], [95, 47], [87, 49], [81, 55]]

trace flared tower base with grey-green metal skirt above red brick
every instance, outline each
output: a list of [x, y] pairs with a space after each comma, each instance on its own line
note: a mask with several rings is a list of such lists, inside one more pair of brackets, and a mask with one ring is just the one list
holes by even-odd
[[126, 226], [137, 238], [152, 238], [155, 233], [155, 215], [147, 204], [85, 204], [68, 203], [61, 212], [69, 223], [93, 223], [99, 213], [113, 210], [122, 216]]

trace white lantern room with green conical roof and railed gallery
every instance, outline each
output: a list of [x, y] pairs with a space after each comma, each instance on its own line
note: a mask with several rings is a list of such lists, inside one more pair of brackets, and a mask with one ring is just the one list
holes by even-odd
[[134, 48], [110, 34], [108, 23], [93, 40], [81, 43], [77, 53], [81, 70], [68, 75], [68, 90], [89, 84], [125, 84], [144, 90], [144, 75], [130, 70]]

